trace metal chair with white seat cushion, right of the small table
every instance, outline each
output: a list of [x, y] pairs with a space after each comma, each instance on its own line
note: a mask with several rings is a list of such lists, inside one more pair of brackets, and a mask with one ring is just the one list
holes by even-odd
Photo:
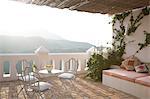
[[67, 62], [65, 62], [67, 71], [58, 75], [58, 78], [60, 78], [62, 82], [62, 87], [65, 90], [72, 90], [73, 88], [76, 89], [73, 82], [76, 78], [78, 65], [78, 60], [76, 60], [75, 58], [71, 58]]

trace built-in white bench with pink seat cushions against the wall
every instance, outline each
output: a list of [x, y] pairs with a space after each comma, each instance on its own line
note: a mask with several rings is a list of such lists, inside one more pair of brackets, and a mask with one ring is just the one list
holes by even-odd
[[134, 95], [140, 99], [150, 97], [150, 74], [123, 69], [103, 70], [103, 84]]

